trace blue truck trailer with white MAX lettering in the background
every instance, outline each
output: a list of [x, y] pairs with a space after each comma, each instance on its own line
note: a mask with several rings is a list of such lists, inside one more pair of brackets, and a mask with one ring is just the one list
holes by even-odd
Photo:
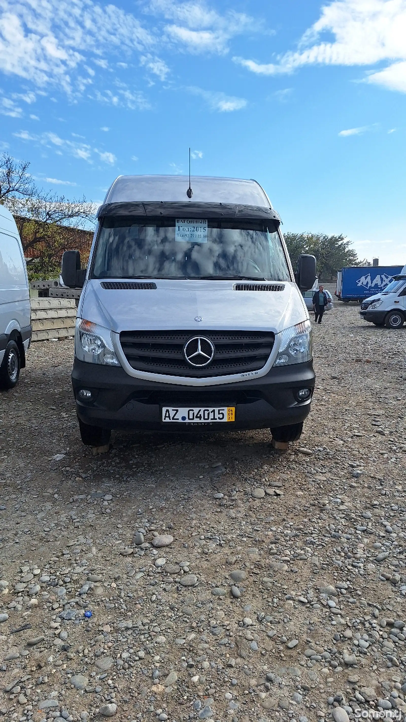
[[381, 293], [402, 266], [346, 266], [337, 272], [335, 295], [344, 303]]

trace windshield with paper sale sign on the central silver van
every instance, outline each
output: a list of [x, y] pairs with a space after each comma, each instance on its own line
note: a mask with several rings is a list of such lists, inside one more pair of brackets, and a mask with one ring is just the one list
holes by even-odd
[[91, 277], [291, 280], [273, 222], [134, 217], [103, 219]]

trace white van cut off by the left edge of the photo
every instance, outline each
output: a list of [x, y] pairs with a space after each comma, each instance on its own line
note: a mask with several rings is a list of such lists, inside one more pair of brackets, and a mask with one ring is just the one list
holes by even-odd
[[30, 290], [12, 214], [0, 205], [0, 388], [13, 388], [31, 341]]

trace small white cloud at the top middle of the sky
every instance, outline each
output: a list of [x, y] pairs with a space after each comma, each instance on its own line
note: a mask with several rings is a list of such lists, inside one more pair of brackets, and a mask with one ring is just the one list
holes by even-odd
[[175, 21], [165, 25], [164, 35], [180, 49], [195, 55], [227, 53], [231, 38], [258, 27], [258, 23], [249, 15], [232, 10], [221, 15], [209, 8], [204, 0], [183, 3], [175, 0], [150, 0], [147, 11]]

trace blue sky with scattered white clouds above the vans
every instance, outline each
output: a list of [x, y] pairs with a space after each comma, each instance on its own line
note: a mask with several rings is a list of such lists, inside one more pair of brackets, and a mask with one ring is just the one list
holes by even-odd
[[256, 178], [285, 231], [406, 263], [406, 0], [0, 0], [0, 147], [43, 188]]

